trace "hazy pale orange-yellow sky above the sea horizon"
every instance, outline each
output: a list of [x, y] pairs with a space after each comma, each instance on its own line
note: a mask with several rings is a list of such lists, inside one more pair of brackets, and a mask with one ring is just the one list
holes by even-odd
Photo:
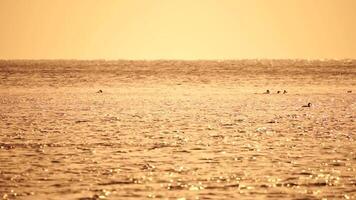
[[356, 58], [356, 0], [0, 0], [0, 59]]

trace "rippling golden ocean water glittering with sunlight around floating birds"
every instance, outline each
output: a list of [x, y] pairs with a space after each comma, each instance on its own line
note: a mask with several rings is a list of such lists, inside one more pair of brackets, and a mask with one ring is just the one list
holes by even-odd
[[354, 199], [355, 120], [354, 60], [0, 61], [0, 199]]

